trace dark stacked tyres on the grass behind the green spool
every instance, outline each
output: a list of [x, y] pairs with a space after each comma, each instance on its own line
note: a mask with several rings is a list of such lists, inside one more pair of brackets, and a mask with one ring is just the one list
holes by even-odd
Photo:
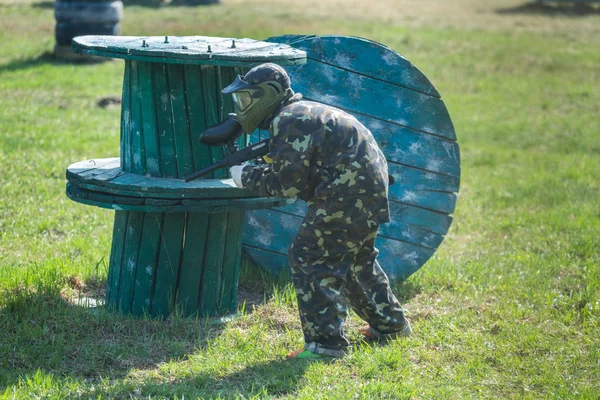
[[[71, 50], [71, 40], [83, 35], [118, 35], [123, 19], [123, 2], [110, 0], [57, 0], [54, 3], [56, 19], [57, 57], [82, 59]], [[90, 56], [87, 59], [98, 59]]]

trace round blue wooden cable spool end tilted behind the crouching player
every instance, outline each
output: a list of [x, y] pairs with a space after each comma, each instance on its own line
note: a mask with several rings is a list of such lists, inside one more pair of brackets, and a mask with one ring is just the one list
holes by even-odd
[[[460, 152], [450, 115], [427, 77], [386, 46], [345, 36], [267, 39], [307, 53], [286, 66], [292, 88], [307, 100], [354, 115], [373, 133], [388, 161], [391, 222], [376, 241], [390, 279], [404, 280], [434, 254], [452, 222], [460, 182]], [[254, 140], [268, 133], [255, 132]], [[287, 269], [288, 247], [306, 203], [244, 216], [243, 249], [264, 270]]]

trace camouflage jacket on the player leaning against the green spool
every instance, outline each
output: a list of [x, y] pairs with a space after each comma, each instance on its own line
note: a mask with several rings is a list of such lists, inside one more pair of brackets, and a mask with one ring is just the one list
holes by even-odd
[[294, 197], [322, 207], [357, 207], [389, 221], [387, 162], [352, 115], [294, 96], [270, 123], [272, 164], [245, 168], [242, 183], [261, 196]]

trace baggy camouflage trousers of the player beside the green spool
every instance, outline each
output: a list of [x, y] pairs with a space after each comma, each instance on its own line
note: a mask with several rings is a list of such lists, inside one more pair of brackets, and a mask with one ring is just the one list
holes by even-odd
[[340, 356], [347, 350], [348, 306], [376, 334], [393, 334], [407, 324], [376, 260], [379, 225], [360, 210], [351, 213], [340, 213], [339, 208], [328, 213], [309, 202], [289, 249], [305, 349], [318, 354]]

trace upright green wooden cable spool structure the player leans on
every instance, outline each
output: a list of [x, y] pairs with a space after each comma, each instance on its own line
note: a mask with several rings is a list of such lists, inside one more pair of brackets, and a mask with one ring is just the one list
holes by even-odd
[[73, 50], [125, 60], [120, 156], [67, 168], [69, 198], [116, 210], [108, 306], [157, 317], [175, 307], [185, 315], [235, 312], [243, 213], [290, 200], [257, 198], [226, 170], [187, 184], [182, 178], [223, 156], [198, 140], [233, 112], [221, 89], [254, 65], [301, 64], [305, 53], [201, 36], [82, 36]]

